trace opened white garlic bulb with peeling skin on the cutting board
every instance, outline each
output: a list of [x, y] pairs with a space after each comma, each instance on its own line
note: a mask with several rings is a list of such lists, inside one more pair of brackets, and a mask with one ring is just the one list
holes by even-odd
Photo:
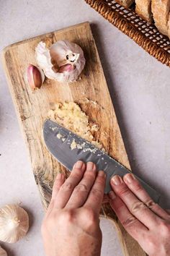
[[58, 82], [76, 81], [86, 62], [81, 47], [67, 40], [53, 43], [50, 49], [38, 43], [35, 58], [45, 76]]

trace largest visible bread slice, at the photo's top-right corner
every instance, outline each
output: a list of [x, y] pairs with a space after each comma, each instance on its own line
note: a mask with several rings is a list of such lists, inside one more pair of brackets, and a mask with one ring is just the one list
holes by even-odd
[[162, 34], [168, 35], [170, 0], [152, 0], [151, 10], [158, 30]]

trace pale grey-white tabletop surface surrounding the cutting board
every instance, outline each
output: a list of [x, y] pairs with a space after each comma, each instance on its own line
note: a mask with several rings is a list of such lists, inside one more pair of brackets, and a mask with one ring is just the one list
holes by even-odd
[[[91, 22], [117, 119], [135, 174], [161, 192], [170, 208], [170, 69], [149, 56], [83, 0], [0, 1], [0, 50], [19, 40]], [[22, 202], [31, 228], [11, 256], [42, 256], [42, 205], [0, 66], [0, 205]], [[122, 255], [117, 235], [102, 221], [103, 256]]]

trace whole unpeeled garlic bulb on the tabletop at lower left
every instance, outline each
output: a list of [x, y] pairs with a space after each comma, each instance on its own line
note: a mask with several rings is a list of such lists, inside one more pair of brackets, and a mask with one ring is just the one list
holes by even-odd
[[14, 243], [27, 233], [29, 219], [27, 212], [18, 205], [0, 208], [0, 240]]

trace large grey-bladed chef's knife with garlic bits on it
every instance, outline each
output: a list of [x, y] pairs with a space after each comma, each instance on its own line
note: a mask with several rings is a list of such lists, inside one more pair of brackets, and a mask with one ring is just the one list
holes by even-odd
[[[76, 161], [92, 161], [96, 163], [97, 170], [103, 170], [107, 174], [107, 181], [105, 187], [105, 193], [111, 190], [109, 181], [112, 176], [119, 175], [124, 176], [130, 173], [128, 168], [122, 166], [122, 164], [115, 161], [103, 150], [99, 150], [90, 142], [75, 135], [68, 129], [61, 127], [50, 119], [47, 119], [42, 128], [45, 145], [50, 153], [57, 158], [63, 166], [72, 170]], [[140, 178], [135, 176], [144, 189], [148, 192], [154, 202], [158, 202], [160, 195], [155, 189], [151, 188], [146, 182], [143, 182]]]

